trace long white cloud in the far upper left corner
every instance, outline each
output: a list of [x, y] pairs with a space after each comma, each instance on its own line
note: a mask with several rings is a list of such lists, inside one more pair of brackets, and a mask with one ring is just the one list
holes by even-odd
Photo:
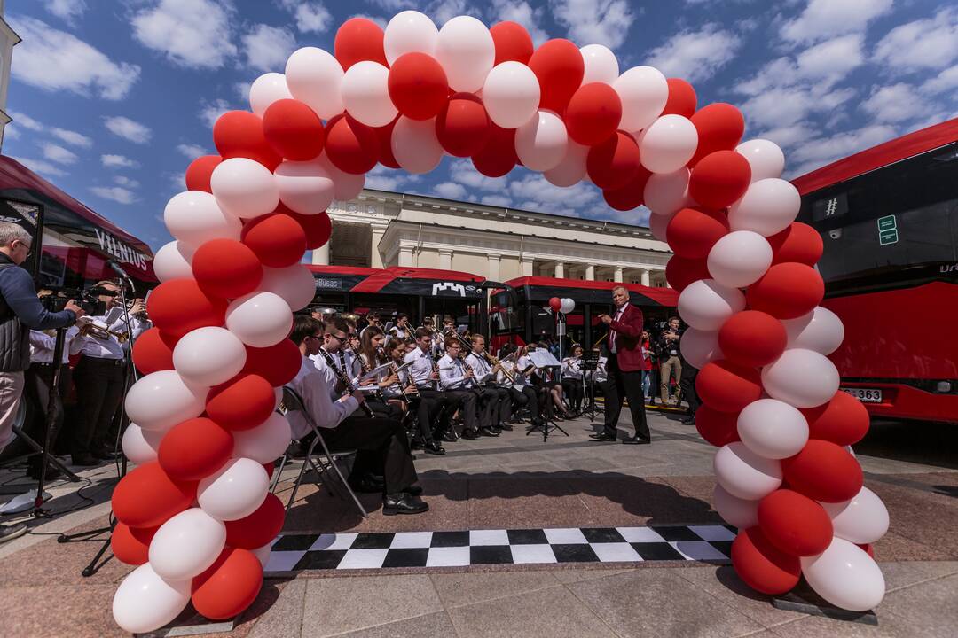
[[13, 53], [11, 73], [44, 91], [70, 91], [81, 96], [123, 99], [140, 77], [140, 67], [117, 64], [70, 33], [26, 16], [10, 16], [23, 41]]

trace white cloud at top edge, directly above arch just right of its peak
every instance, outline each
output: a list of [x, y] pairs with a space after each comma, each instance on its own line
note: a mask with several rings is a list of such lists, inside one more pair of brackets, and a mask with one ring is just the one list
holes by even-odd
[[604, 44], [617, 49], [635, 20], [627, 0], [552, 0], [550, 8], [556, 22], [580, 45]]

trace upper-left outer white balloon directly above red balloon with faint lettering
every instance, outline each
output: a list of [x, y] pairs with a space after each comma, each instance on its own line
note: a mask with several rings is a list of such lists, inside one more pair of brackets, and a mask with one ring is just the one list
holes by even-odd
[[[239, 240], [242, 231], [242, 222], [221, 209], [217, 198], [204, 190], [173, 195], [163, 210], [163, 222], [170, 234], [191, 251], [210, 239]], [[193, 278], [192, 267], [188, 276]]]

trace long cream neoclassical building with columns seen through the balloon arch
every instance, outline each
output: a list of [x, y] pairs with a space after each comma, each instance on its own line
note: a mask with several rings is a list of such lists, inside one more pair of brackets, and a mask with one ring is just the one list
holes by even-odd
[[329, 214], [332, 239], [314, 264], [667, 285], [669, 247], [639, 226], [370, 188]]

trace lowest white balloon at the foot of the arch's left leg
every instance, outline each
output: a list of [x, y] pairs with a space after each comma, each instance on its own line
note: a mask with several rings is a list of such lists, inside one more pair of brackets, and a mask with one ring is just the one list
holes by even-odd
[[142, 564], [113, 594], [113, 620], [130, 633], [148, 633], [170, 623], [190, 602], [191, 581], [165, 581]]

